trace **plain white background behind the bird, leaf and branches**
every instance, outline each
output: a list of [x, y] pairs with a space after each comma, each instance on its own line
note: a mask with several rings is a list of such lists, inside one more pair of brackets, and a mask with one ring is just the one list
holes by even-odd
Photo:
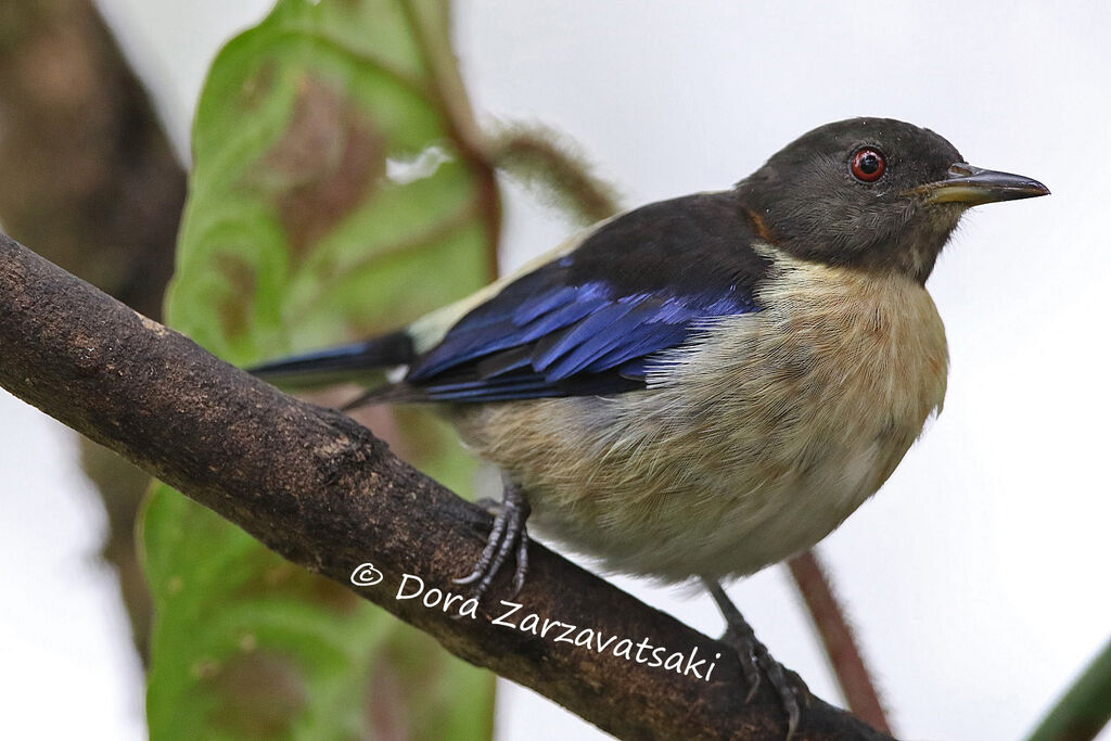
[[[269, 0], [103, 4], [184, 151], [216, 49]], [[457, 19], [484, 122], [567, 132], [629, 206], [727, 187], [862, 114], [927, 126], [969, 162], [1052, 189], [977, 210], [942, 256], [929, 288], [949, 331], [945, 411], [822, 545], [900, 735], [1021, 737], [1111, 628], [1109, 7], [470, 0]], [[507, 219], [507, 267], [568, 231], [516, 191]], [[4, 735], [142, 738], [142, 675], [72, 441], [7, 394], [0, 415]], [[721, 629], [707, 598], [622, 584]], [[731, 593], [837, 700], [785, 570]], [[608, 738], [501, 689], [500, 739]]]

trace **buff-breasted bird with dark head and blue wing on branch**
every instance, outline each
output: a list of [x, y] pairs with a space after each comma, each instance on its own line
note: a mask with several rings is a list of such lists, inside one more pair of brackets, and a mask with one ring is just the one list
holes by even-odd
[[[386, 337], [254, 372], [406, 367], [366, 402], [436, 402], [504, 473], [484, 591], [526, 519], [609, 569], [701, 579], [754, 689], [798, 723], [782, 669], [718, 585], [820, 541], [941, 410], [948, 352], [924, 283], [964, 211], [1044, 196], [928, 129], [858, 118], [729, 190], [602, 221]], [[530, 518], [531, 510], [531, 518]]]

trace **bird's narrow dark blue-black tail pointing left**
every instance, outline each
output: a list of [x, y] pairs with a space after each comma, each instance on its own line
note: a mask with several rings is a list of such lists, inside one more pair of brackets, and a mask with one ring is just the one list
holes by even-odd
[[306, 388], [361, 381], [374, 371], [406, 366], [413, 356], [412, 338], [399, 330], [363, 342], [279, 358], [247, 370], [274, 385]]

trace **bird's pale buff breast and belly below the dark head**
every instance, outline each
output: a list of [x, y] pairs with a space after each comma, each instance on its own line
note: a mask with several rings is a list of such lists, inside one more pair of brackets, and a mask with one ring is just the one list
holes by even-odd
[[933, 301], [901, 277], [775, 262], [763, 311], [718, 321], [645, 391], [452, 412], [531, 524], [615, 570], [740, 575], [880, 488], [944, 398]]

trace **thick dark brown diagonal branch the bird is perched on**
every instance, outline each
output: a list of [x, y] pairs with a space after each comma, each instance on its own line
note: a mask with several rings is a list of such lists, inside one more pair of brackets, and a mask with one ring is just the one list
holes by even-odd
[[[743, 704], [729, 649], [532, 543], [529, 583], [508, 621], [528, 613], [712, 659], [712, 681], [610, 651], [396, 599], [406, 574], [428, 590], [476, 561], [490, 517], [394, 457], [339, 412], [313, 407], [209, 354], [0, 236], [0, 384], [116, 450], [294, 563], [342, 582], [449, 651], [530, 687], [624, 739], [775, 739], [764, 682]], [[372, 562], [380, 583], [354, 588]], [[414, 582], [411, 582], [414, 583]], [[427, 593], [427, 592], [426, 592]], [[562, 631], [560, 631], [562, 632]], [[617, 642], [615, 641], [615, 642]], [[614, 643], [615, 643], [614, 642]], [[633, 652], [635, 653], [635, 652]], [[708, 667], [703, 667], [703, 673]], [[817, 698], [800, 739], [888, 739]]]

